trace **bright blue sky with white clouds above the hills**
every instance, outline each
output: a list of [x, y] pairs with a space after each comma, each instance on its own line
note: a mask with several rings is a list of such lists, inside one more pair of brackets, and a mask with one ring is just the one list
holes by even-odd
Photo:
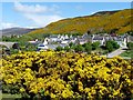
[[41, 28], [65, 18], [89, 16], [98, 11], [131, 9], [130, 2], [0, 2], [0, 29]]

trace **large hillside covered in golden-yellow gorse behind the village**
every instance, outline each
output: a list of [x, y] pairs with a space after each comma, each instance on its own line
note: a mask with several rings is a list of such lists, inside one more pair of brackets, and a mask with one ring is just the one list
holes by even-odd
[[[133, 9], [132, 9], [133, 10]], [[131, 29], [131, 9], [119, 11], [101, 11], [92, 16], [63, 19], [52, 22], [44, 28], [31, 31], [32, 33], [91, 33], [112, 32], [124, 33]]]

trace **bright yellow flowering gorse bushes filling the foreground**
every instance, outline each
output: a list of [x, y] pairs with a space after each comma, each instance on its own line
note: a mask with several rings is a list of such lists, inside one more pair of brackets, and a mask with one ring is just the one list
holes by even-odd
[[21, 52], [1, 60], [3, 92], [43, 99], [130, 99], [131, 62], [73, 52]]

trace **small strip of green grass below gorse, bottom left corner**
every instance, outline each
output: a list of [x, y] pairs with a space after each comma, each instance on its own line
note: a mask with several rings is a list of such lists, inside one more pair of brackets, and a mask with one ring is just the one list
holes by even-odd
[[1, 93], [0, 94], [0, 100], [16, 100], [20, 99], [21, 94], [9, 94], [9, 93]]

